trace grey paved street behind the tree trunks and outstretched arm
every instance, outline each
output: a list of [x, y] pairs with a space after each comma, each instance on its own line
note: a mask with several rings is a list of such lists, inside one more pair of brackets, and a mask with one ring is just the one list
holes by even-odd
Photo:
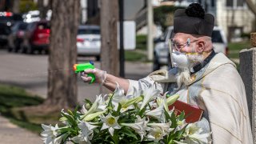
[[[78, 63], [88, 62], [90, 58], [79, 57]], [[14, 54], [0, 50], [0, 82], [21, 86], [31, 93], [46, 98], [47, 93], [47, 65], [48, 56], [42, 54]], [[94, 62], [96, 67], [99, 62]], [[126, 62], [126, 78], [139, 79], [150, 74], [150, 63]], [[61, 70], [72, 70], [72, 67], [63, 67]], [[50, 70], [50, 74], [58, 74], [59, 70]], [[86, 84], [78, 77], [78, 101], [84, 98], [94, 99], [99, 94], [98, 84]]]

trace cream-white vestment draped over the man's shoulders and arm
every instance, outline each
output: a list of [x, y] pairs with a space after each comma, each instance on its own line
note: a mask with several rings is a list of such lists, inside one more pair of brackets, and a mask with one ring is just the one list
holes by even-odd
[[[133, 87], [143, 90], [149, 86], [163, 93], [166, 82], [172, 81], [166, 70], [158, 70], [139, 81], [129, 80], [127, 94], [133, 93]], [[204, 110], [214, 144], [253, 143], [245, 87], [234, 63], [224, 54], [216, 54], [176, 94], [180, 94], [179, 100]]]

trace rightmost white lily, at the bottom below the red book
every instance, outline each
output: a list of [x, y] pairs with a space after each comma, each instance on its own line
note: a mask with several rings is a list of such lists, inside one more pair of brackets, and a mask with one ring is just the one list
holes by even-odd
[[210, 142], [210, 134], [201, 134], [202, 128], [199, 128], [194, 123], [190, 123], [185, 130], [187, 143], [208, 143]]

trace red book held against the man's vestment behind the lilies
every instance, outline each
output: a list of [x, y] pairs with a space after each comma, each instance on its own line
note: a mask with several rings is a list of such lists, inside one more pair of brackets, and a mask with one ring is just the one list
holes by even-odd
[[199, 109], [198, 106], [191, 106], [186, 102], [177, 100], [174, 104], [169, 106], [169, 110], [172, 110], [173, 108], [176, 115], [179, 115], [184, 111], [187, 123], [198, 122], [202, 118], [203, 110]]

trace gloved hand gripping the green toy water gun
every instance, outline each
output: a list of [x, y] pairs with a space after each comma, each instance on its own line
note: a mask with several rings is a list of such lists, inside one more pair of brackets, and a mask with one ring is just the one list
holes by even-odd
[[81, 78], [84, 82], [90, 82], [91, 77], [88, 77], [88, 74], [95, 75], [95, 82], [103, 84], [106, 80], [106, 71], [98, 70], [98, 69], [87, 69], [81, 73]]

